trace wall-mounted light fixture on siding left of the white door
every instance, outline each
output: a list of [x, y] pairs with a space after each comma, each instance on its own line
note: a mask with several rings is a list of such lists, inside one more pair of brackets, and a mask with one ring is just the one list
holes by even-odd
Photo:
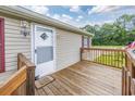
[[21, 21], [21, 34], [25, 37], [29, 35], [29, 24], [26, 21]]

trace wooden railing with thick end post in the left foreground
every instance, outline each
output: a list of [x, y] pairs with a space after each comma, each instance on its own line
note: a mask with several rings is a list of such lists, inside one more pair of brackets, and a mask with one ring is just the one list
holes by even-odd
[[34, 96], [35, 65], [22, 53], [17, 54], [17, 72], [0, 85], [0, 96]]

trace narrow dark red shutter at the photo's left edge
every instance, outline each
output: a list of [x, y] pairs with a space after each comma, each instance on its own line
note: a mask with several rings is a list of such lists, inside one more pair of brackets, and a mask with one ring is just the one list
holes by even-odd
[[1, 68], [0, 68], [0, 73], [2, 73], [2, 72], [4, 72], [5, 71], [5, 63], [4, 63], [4, 18], [1, 18], [0, 17], [0, 30], [1, 30], [1, 33], [0, 33], [0, 36], [1, 36], [1, 38], [2, 38], [2, 40], [1, 40], [1, 46], [2, 46], [2, 64], [1, 64]]

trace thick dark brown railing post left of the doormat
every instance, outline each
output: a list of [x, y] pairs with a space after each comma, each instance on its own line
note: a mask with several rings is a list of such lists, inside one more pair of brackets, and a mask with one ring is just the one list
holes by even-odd
[[27, 67], [26, 94], [35, 94], [35, 66]]

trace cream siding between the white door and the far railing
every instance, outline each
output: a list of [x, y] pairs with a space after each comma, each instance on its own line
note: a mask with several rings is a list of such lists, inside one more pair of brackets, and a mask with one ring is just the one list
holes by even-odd
[[81, 35], [57, 29], [57, 70], [78, 62], [81, 46]]

